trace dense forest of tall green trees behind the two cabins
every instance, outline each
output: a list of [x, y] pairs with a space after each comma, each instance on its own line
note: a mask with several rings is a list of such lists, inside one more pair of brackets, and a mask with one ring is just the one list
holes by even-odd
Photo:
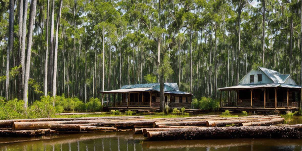
[[[25, 106], [176, 82], [217, 98], [253, 67], [301, 84], [299, 0], [0, 0], [0, 95]], [[105, 96], [104, 99], [110, 99]]]

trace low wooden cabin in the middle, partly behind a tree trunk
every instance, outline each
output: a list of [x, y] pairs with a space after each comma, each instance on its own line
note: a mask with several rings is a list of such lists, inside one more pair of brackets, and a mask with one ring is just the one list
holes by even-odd
[[[179, 91], [177, 83], [164, 83], [165, 103], [170, 108], [191, 108], [192, 94]], [[120, 89], [98, 92], [108, 94], [113, 100], [103, 103], [104, 109], [159, 110], [160, 84], [124, 85]], [[118, 100], [116, 98], [119, 98]]]

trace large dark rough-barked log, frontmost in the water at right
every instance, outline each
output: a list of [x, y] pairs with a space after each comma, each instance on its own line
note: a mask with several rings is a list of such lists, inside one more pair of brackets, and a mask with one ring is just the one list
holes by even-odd
[[263, 127], [180, 128], [147, 132], [149, 140], [192, 140], [230, 138], [302, 138], [302, 124]]

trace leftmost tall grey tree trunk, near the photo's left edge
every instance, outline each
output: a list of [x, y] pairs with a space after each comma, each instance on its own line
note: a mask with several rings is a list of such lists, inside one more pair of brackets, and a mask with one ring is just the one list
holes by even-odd
[[13, 52], [14, 47], [14, 1], [9, 1], [9, 27], [8, 27], [8, 47], [6, 53], [6, 80], [5, 80], [5, 98], [8, 101], [8, 86], [9, 86], [9, 56]]

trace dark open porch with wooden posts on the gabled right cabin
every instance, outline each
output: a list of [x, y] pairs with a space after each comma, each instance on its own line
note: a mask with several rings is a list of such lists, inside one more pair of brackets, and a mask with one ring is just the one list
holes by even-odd
[[[253, 88], [253, 89], [220, 89], [220, 106], [222, 110], [298, 110], [300, 90], [296, 88]], [[230, 92], [235, 97], [230, 99]], [[227, 93], [223, 93], [227, 92]], [[222, 98], [222, 94], [223, 98]]]

